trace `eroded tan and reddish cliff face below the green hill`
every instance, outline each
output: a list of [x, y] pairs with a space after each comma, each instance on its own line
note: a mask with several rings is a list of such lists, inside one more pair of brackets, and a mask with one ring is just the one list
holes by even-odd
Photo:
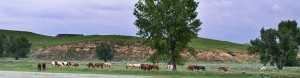
[[[154, 53], [153, 50], [142, 44], [88, 41], [43, 47], [39, 49], [38, 53], [34, 54], [34, 56], [38, 59], [47, 60], [94, 60], [96, 59], [95, 47], [101, 43], [114, 45], [117, 53], [113, 60], [116, 61], [145, 61]], [[74, 51], [70, 51], [70, 49]], [[243, 62], [258, 60], [258, 56], [249, 55], [246, 52], [233, 52], [233, 54], [228, 54], [225, 51], [199, 50], [196, 51], [196, 57], [192, 57], [188, 52], [183, 52], [181, 55], [189, 61]]]

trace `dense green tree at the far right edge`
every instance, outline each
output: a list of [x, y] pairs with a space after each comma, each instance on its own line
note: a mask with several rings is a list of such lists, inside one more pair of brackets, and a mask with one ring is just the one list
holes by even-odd
[[282, 21], [278, 30], [262, 28], [260, 34], [260, 38], [250, 41], [248, 51], [251, 54], [259, 54], [263, 64], [276, 64], [278, 69], [298, 65], [300, 29], [296, 21]]

